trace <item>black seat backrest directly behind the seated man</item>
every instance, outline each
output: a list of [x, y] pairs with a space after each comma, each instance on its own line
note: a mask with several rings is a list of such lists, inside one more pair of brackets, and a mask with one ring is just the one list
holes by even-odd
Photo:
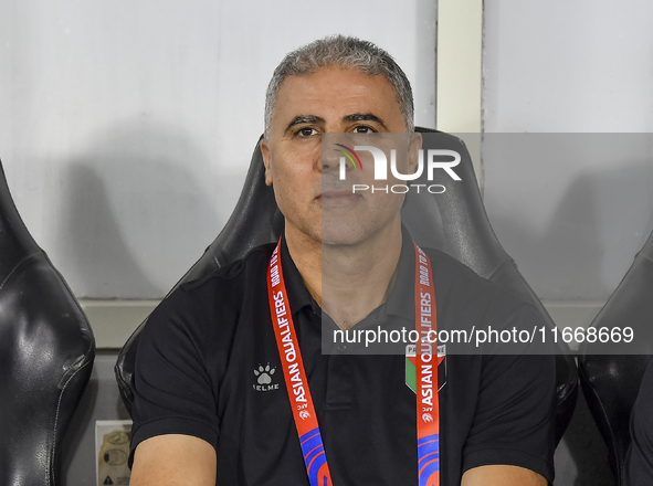
[[[452, 183], [445, 171], [436, 170], [433, 172], [432, 181], [426, 180], [426, 173], [423, 173], [420, 180], [413, 182], [446, 187], [443, 194], [429, 197], [423, 191], [421, 194], [413, 192], [407, 194], [401, 218], [415, 242], [419, 245], [434, 246], [444, 251], [482, 277], [533, 304], [545, 321], [554, 326], [541, 303], [526, 284], [492, 230], [478, 191], [472, 160], [463, 141], [449, 134], [420, 127], [415, 129], [424, 134], [424, 151], [438, 148], [454, 150], [461, 155], [461, 162], [456, 166], [455, 172], [462, 179]], [[241, 258], [257, 245], [277, 241], [283, 224], [283, 215], [276, 205], [274, 191], [264, 182], [263, 158], [257, 145], [233, 214], [204, 255], [177, 285], [199, 278], [221, 265]], [[143, 325], [129, 338], [116, 363], [116, 379], [129, 411], [134, 399], [131, 392], [134, 362]], [[556, 372], [558, 385], [556, 435], [559, 440], [571, 419], [578, 391], [576, 363], [568, 355], [568, 348], [561, 349], [561, 353], [557, 356]]]

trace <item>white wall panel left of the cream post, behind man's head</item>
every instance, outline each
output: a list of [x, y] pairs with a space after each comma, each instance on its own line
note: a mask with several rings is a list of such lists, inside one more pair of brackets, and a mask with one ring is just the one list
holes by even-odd
[[388, 50], [434, 126], [432, 0], [7, 0], [0, 158], [80, 297], [160, 297], [230, 215], [283, 55], [327, 34]]

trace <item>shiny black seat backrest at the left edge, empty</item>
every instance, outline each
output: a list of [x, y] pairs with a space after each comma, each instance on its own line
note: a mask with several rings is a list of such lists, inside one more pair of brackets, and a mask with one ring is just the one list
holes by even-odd
[[91, 327], [24, 226], [0, 163], [0, 484], [56, 484], [94, 357]]

